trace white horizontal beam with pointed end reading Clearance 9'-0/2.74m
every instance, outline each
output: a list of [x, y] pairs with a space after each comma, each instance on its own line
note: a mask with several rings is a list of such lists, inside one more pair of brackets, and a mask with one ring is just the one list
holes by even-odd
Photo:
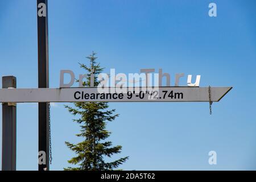
[[[105, 88], [106, 89], [106, 88]], [[100, 93], [98, 88], [0, 89], [0, 102], [209, 102], [207, 87], [123, 88], [123, 92]], [[210, 88], [218, 102], [232, 87]]]

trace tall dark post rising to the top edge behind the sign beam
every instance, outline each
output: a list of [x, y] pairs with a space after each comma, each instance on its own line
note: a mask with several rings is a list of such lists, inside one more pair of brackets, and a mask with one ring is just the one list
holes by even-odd
[[[49, 88], [49, 56], [48, 56], [48, 2], [37, 0], [38, 13], [38, 88]], [[45, 163], [38, 164], [39, 171], [49, 170], [49, 121], [48, 103], [38, 104], [39, 145], [38, 151], [43, 151]], [[40, 156], [38, 156], [40, 158]]]

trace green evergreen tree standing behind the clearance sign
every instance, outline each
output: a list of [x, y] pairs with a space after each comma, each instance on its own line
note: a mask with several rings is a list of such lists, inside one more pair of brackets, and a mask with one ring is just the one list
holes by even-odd
[[[97, 86], [97, 76], [103, 71], [100, 64], [96, 63], [96, 53], [92, 53], [86, 57], [90, 61], [90, 67], [80, 64], [80, 67], [87, 72], [86, 80], [83, 82], [84, 86], [90, 86], [90, 76], [94, 73], [94, 86]], [[124, 163], [128, 157], [120, 158], [114, 162], [105, 162], [105, 157], [111, 157], [113, 154], [121, 152], [122, 146], [112, 147], [112, 142], [106, 141], [110, 136], [110, 131], [106, 130], [106, 122], [113, 121], [118, 114], [114, 114], [115, 110], [108, 110], [107, 102], [75, 102], [75, 107], [67, 106], [70, 113], [73, 115], [80, 115], [79, 119], [73, 121], [80, 124], [81, 133], [77, 137], [82, 137], [84, 140], [77, 144], [65, 142], [65, 144], [76, 156], [68, 160], [70, 164], [77, 164], [79, 167], [68, 167], [64, 170], [113, 170], [120, 164]]]

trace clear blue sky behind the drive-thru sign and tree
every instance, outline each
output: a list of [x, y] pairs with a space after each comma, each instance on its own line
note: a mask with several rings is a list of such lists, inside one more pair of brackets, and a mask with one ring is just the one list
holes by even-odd
[[[210, 2], [217, 17], [208, 16]], [[110, 103], [120, 117], [109, 140], [130, 159], [122, 169], [256, 170], [256, 1], [48, 0], [49, 80], [59, 87], [61, 69], [83, 73], [80, 63], [98, 53], [105, 72], [163, 68], [201, 75], [200, 86], [233, 86], [218, 103]], [[0, 1], [0, 76], [18, 88], [38, 86], [36, 1]], [[181, 79], [185, 85], [186, 78]], [[2, 80], [0, 81], [0, 85]], [[79, 125], [64, 104], [53, 104], [51, 169], [70, 166], [65, 141]], [[71, 104], [72, 105], [72, 104]], [[0, 109], [2, 106], [0, 106]], [[1, 109], [2, 110], [2, 109]], [[0, 112], [2, 118], [2, 111]], [[2, 124], [0, 123], [2, 137]], [[2, 140], [0, 140], [2, 146]], [[208, 152], [217, 152], [217, 165]], [[1, 151], [0, 151], [1, 153]], [[17, 106], [17, 169], [37, 170], [38, 105]], [[1, 162], [1, 159], [0, 159]]]

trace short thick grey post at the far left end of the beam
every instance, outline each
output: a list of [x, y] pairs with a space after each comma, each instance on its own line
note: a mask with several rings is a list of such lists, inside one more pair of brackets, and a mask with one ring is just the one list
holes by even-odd
[[[16, 88], [16, 77], [2, 77], [2, 88]], [[16, 104], [2, 105], [2, 171], [16, 171]]]

